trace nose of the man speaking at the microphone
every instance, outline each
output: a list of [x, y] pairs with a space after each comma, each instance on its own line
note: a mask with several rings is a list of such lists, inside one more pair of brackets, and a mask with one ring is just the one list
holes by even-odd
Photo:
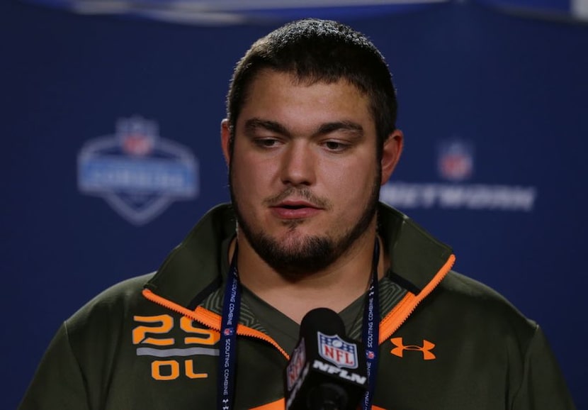
[[291, 141], [281, 157], [283, 184], [293, 186], [315, 183], [315, 156], [305, 141]]

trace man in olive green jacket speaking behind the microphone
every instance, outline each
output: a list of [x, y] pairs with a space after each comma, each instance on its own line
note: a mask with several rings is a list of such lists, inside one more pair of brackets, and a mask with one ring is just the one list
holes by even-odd
[[403, 135], [388, 67], [361, 33], [304, 20], [268, 34], [237, 65], [227, 107], [232, 204], [154, 275], [65, 321], [22, 410], [283, 409], [316, 307], [351, 338], [377, 336], [364, 408], [574, 408], [536, 323], [378, 203]]

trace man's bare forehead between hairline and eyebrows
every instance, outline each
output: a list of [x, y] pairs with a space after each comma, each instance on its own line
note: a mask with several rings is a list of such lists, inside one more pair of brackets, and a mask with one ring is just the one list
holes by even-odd
[[337, 82], [298, 79], [288, 72], [263, 70], [249, 84], [237, 128], [251, 118], [304, 128], [333, 121], [375, 129], [368, 96], [346, 79]]

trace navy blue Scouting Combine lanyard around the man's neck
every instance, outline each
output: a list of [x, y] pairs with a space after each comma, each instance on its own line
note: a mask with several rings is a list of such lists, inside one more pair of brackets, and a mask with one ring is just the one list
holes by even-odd
[[[378, 370], [378, 338], [380, 326], [380, 304], [378, 302], [378, 260], [380, 246], [375, 240], [372, 262], [372, 279], [368, 289], [366, 307], [363, 312], [363, 343], [366, 345], [366, 361], [368, 365], [368, 391], [363, 398], [363, 410], [371, 409], [375, 376]], [[241, 310], [241, 283], [237, 272], [237, 247], [231, 261], [225, 297], [222, 303], [220, 323], [220, 351], [217, 377], [217, 409], [234, 409], [234, 379], [237, 362], [237, 323]]]

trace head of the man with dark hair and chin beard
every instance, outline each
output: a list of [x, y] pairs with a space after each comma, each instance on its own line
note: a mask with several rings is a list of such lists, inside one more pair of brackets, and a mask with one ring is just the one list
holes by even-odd
[[388, 67], [365, 36], [305, 20], [258, 40], [235, 69], [228, 116], [239, 248], [300, 277], [373, 247], [402, 133]]

